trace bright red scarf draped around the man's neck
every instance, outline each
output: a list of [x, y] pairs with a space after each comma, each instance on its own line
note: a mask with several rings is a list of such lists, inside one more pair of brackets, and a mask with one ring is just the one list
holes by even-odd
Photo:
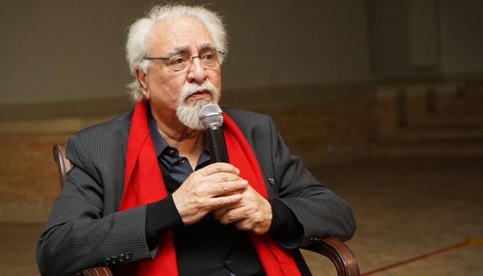
[[[158, 201], [167, 196], [159, 170], [155, 148], [148, 128], [145, 101], [136, 104], [131, 119], [124, 172], [124, 196], [119, 210], [126, 210]], [[248, 141], [235, 122], [224, 113], [224, 135], [230, 164], [240, 170], [240, 177], [248, 180], [263, 197], [268, 197], [262, 172]], [[290, 252], [279, 246], [269, 235], [250, 237], [267, 276], [300, 275]], [[178, 275], [172, 231], [161, 235], [155, 259], [132, 263], [120, 269], [121, 275]]]

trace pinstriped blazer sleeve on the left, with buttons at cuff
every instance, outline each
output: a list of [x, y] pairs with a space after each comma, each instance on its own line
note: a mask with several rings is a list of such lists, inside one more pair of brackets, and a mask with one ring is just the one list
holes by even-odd
[[[109, 148], [102, 141], [92, 144]], [[93, 151], [99, 151], [99, 157]], [[73, 167], [39, 237], [37, 265], [41, 275], [73, 275], [88, 267], [113, 264], [112, 257], [118, 264], [125, 259], [126, 264], [155, 255], [146, 243], [146, 205], [117, 212], [119, 204], [112, 195], [115, 184], [103, 179], [108, 174], [101, 172], [101, 166], [116, 164], [113, 159], [120, 157], [103, 153], [99, 148], [86, 150], [77, 135], [68, 139], [67, 154]], [[102, 161], [106, 164], [101, 165]], [[111, 170], [124, 172], [124, 166]]]

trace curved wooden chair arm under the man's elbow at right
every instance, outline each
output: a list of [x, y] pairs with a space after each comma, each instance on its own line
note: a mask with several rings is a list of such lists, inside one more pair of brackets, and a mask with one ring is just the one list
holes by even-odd
[[351, 248], [348, 248], [346, 244], [340, 242], [338, 239], [326, 237], [317, 243], [304, 247], [304, 249], [328, 257], [328, 259], [330, 259], [335, 265], [337, 275], [339, 276], [360, 275], [357, 259], [355, 259], [355, 255], [352, 253]]

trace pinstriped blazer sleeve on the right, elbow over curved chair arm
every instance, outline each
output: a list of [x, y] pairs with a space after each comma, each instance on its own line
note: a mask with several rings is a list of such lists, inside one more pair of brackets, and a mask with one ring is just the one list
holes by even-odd
[[323, 237], [336, 237], [345, 241], [355, 232], [355, 219], [344, 200], [321, 184], [290, 155], [273, 119], [268, 117], [273, 175], [277, 194], [304, 227], [298, 241], [281, 242], [287, 248], [304, 247]]

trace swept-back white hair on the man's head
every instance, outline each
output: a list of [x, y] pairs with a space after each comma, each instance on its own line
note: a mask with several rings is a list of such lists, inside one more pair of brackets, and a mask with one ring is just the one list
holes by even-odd
[[[152, 26], [156, 22], [168, 18], [194, 17], [204, 24], [210, 32], [215, 47], [221, 52], [228, 52], [228, 39], [221, 17], [215, 12], [203, 6], [183, 6], [168, 4], [165, 6], [154, 6], [145, 17], [137, 19], [128, 28], [128, 41], [126, 41], [126, 59], [128, 61], [131, 75], [136, 77], [136, 68], [148, 72], [149, 60], [144, 59], [148, 54], [148, 37], [151, 34]], [[223, 63], [223, 55], [219, 55], [220, 64]], [[144, 98], [137, 79], [128, 84], [130, 97], [135, 103]]]

